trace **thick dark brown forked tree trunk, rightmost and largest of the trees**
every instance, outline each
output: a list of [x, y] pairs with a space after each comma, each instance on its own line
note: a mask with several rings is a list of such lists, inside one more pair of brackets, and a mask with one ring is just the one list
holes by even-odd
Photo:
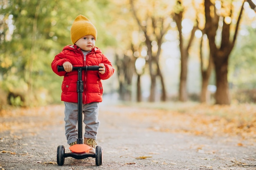
[[[231, 36], [231, 26], [225, 22], [225, 16], [222, 16], [222, 35], [221, 35], [221, 44], [220, 47], [217, 47], [216, 44], [216, 32], [219, 27], [220, 15], [217, 15], [215, 9], [215, 5], [211, 2], [211, 0], [204, 0], [204, 10], [205, 10], [205, 32], [209, 39], [209, 46], [211, 55], [213, 56], [213, 61], [215, 64], [215, 72], [216, 72], [216, 104], [230, 104], [229, 99], [229, 84], [227, 80], [227, 72], [228, 72], [228, 60], [229, 55], [234, 48], [234, 44], [236, 42], [236, 37], [238, 34], [238, 27], [243, 13], [243, 6], [245, 1], [240, 9], [240, 13], [237, 18], [237, 22], [235, 25], [235, 32], [233, 37]], [[232, 9], [232, 3], [230, 3], [230, 9]], [[212, 15], [214, 12], [214, 15]], [[233, 16], [232, 10], [229, 11], [229, 17]]]

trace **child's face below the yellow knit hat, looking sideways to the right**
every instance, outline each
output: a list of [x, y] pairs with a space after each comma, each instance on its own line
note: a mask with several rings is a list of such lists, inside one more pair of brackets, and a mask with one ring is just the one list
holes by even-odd
[[95, 38], [92, 35], [85, 35], [75, 43], [83, 51], [90, 51], [95, 46]]

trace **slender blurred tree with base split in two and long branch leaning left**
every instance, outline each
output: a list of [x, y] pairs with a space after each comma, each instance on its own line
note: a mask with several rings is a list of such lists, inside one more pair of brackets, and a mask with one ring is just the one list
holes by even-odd
[[[135, 19], [137, 21], [137, 24], [141, 31], [144, 32], [145, 38], [146, 38], [146, 46], [148, 48], [148, 66], [149, 66], [149, 73], [151, 78], [151, 86], [150, 86], [150, 96], [149, 96], [149, 102], [155, 102], [155, 93], [156, 93], [156, 78], [157, 76], [160, 77], [161, 81], [161, 100], [166, 101], [166, 89], [164, 85], [164, 78], [162, 76], [161, 70], [159, 68], [159, 55], [161, 52], [161, 44], [162, 44], [162, 38], [165, 35], [165, 33], [170, 28], [170, 23], [168, 20], [166, 20], [166, 16], [159, 17], [157, 15], [146, 15], [143, 21], [150, 22], [151, 24], [142, 25], [142, 20], [139, 19], [137, 15], [137, 9], [135, 9], [135, 6], [133, 4], [133, 0], [130, 0], [130, 5], [132, 9], [132, 13], [135, 16]], [[148, 11], [149, 12], [149, 11]], [[150, 13], [154, 13], [154, 11], [150, 11]], [[149, 14], [149, 13], [147, 13]], [[165, 23], [165, 22], [168, 22]], [[160, 30], [160, 31], [159, 31]], [[153, 53], [152, 51], [152, 42], [156, 41], [158, 45], [157, 54]]]

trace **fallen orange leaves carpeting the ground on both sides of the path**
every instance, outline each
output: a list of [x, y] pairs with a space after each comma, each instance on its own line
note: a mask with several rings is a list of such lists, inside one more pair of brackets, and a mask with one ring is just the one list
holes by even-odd
[[[141, 128], [146, 127], [148, 130], [161, 132], [181, 132], [208, 137], [238, 136], [241, 140], [256, 140], [256, 105], [254, 104], [211, 106], [190, 102], [129, 103], [102, 108], [102, 114], [108, 114], [109, 117], [122, 114], [126, 119], [132, 119], [138, 128], [142, 125]], [[62, 105], [56, 105], [2, 110], [0, 132], [29, 129], [35, 124], [42, 126], [63, 124], [63, 109]]]

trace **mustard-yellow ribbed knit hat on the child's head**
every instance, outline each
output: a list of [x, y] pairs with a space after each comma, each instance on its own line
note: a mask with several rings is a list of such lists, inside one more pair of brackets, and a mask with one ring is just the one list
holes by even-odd
[[78, 15], [71, 26], [71, 40], [73, 44], [85, 35], [93, 35], [96, 41], [97, 30], [95, 26], [83, 15]]

